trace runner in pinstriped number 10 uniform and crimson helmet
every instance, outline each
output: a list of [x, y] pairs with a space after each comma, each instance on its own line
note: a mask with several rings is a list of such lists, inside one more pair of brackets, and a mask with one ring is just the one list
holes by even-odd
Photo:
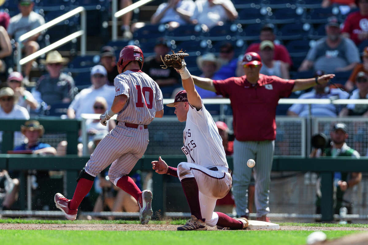
[[151, 219], [152, 192], [139, 190], [127, 176], [146, 151], [147, 125], [153, 118], [163, 116], [161, 90], [141, 71], [143, 62], [142, 50], [137, 46], [129, 45], [120, 51], [117, 62], [120, 75], [114, 79], [114, 102], [111, 109], [100, 116], [100, 122], [106, 126], [106, 121], [117, 113], [116, 127], [101, 140], [79, 174], [73, 198], [66, 199], [60, 193], [54, 197], [56, 207], [68, 220], [75, 220], [77, 208], [91, 190], [96, 175], [110, 164], [110, 181], [137, 200], [141, 223], [146, 224]]

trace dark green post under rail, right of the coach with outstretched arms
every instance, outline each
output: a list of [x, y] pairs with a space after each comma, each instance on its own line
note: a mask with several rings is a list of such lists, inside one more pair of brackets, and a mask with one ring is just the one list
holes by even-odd
[[333, 172], [321, 173], [321, 221], [333, 220]]

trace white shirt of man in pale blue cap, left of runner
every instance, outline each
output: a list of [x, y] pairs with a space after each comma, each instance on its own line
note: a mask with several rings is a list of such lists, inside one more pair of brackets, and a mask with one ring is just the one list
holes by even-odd
[[80, 118], [82, 113], [94, 113], [93, 104], [96, 97], [105, 98], [109, 109], [114, 101], [115, 88], [105, 84], [98, 89], [93, 89], [92, 86], [88, 89], [82, 89], [69, 106], [75, 111], [75, 118]]

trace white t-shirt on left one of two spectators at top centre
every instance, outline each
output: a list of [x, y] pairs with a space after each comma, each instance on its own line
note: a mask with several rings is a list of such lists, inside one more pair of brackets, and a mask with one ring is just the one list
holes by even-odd
[[[153, 15], [159, 15], [164, 10], [164, 8], [166, 8], [166, 6], [167, 6], [167, 3], [160, 4], [159, 7], [157, 8], [155, 14], [153, 14]], [[192, 0], [182, 0], [182, 1], [178, 2], [176, 7], [181, 8], [185, 11], [190, 12], [190, 13], [193, 13], [194, 8], [195, 8], [195, 4]], [[173, 8], [169, 8], [168, 10], [166, 10], [165, 14], [160, 19], [160, 23], [167, 23], [167, 22], [170, 22], [170, 21], [176, 21], [180, 25], [187, 24], [187, 22], [183, 18], [181, 18], [180, 15], [176, 11], [174, 11]]]

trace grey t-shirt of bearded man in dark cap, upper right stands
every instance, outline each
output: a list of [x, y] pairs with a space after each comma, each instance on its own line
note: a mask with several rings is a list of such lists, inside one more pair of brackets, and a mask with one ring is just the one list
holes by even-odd
[[306, 57], [314, 62], [315, 70], [325, 71], [326, 74], [334, 73], [338, 67], [344, 67], [354, 62], [360, 62], [359, 51], [354, 42], [342, 37], [336, 48], [330, 48], [326, 44], [326, 37], [319, 39]]

